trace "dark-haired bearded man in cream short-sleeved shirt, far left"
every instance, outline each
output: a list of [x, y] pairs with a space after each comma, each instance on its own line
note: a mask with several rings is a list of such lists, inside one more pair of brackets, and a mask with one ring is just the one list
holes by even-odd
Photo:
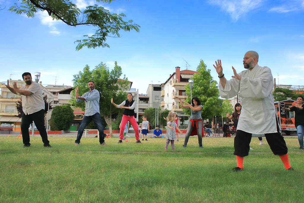
[[42, 96], [40, 85], [33, 82], [32, 75], [29, 72], [22, 74], [22, 78], [26, 83], [20, 89], [17, 83], [13, 83], [13, 88], [9, 86], [9, 80], [5, 85], [12, 93], [20, 95], [22, 98], [22, 117], [21, 117], [21, 132], [23, 147], [29, 147], [29, 125], [34, 121], [42, 138], [43, 146], [51, 147], [47, 139], [47, 131], [44, 125], [44, 108], [45, 103]]

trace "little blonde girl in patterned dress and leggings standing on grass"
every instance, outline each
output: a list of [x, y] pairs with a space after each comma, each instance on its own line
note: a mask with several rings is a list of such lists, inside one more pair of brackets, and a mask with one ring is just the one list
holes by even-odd
[[168, 117], [167, 117], [167, 127], [168, 127], [168, 130], [167, 130], [167, 133], [166, 133], [166, 145], [165, 145], [165, 150], [168, 149], [168, 145], [169, 145], [169, 142], [171, 142], [171, 148], [173, 150], [174, 149], [174, 140], [176, 139], [176, 132], [175, 132], [175, 128], [178, 130], [178, 132], [180, 134], [183, 134], [181, 132], [181, 130], [177, 127], [176, 123], [175, 123], [175, 117], [176, 117], [176, 114], [173, 113], [173, 112], [170, 112], [168, 114]]

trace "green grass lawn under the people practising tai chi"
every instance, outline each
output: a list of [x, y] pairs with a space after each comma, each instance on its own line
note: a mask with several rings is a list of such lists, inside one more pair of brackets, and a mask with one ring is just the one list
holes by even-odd
[[233, 138], [190, 138], [187, 148], [165, 139], [117, 144], [118, 138], [31, 137], [23, 148], [16, 136], [0, 137], [0, 202], [304, 202], [304, 152], [285, 138], [291, 166], [252, 138], [244, 170], [236, 166]]

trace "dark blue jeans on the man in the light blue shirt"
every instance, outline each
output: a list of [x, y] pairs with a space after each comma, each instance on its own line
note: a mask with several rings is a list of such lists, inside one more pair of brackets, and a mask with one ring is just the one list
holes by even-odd
[[102, 144], [105, 142], [105, 136], [103, 135], [103, 126], [102, 126], [102, 121], [99, 113], [96, 113], [92, 116], [84, 116], [82, 119], [82, 122], [80, 124], [80, 127], [78, 129], [77, 133], [77, 139], [75, 140], [75, 143], [80, 143], [80, 139], [82, 137], [83, 131], [85, 130], [85, 127], [93, 120], [95, 123], [98, 131], [99, 131], [99, 142]]

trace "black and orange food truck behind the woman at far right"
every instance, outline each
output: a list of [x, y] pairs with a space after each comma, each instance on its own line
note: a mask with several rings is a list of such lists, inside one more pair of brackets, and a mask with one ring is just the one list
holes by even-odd
[[295, 112], [283, 109], [283, 107], [290, 108], [294, 104], [295, 100], [291, 99], [275, 102], [281, 134], [284, 132], [286, 135], [290, 135], [292, 131], [297, 131], [295, 128]]

